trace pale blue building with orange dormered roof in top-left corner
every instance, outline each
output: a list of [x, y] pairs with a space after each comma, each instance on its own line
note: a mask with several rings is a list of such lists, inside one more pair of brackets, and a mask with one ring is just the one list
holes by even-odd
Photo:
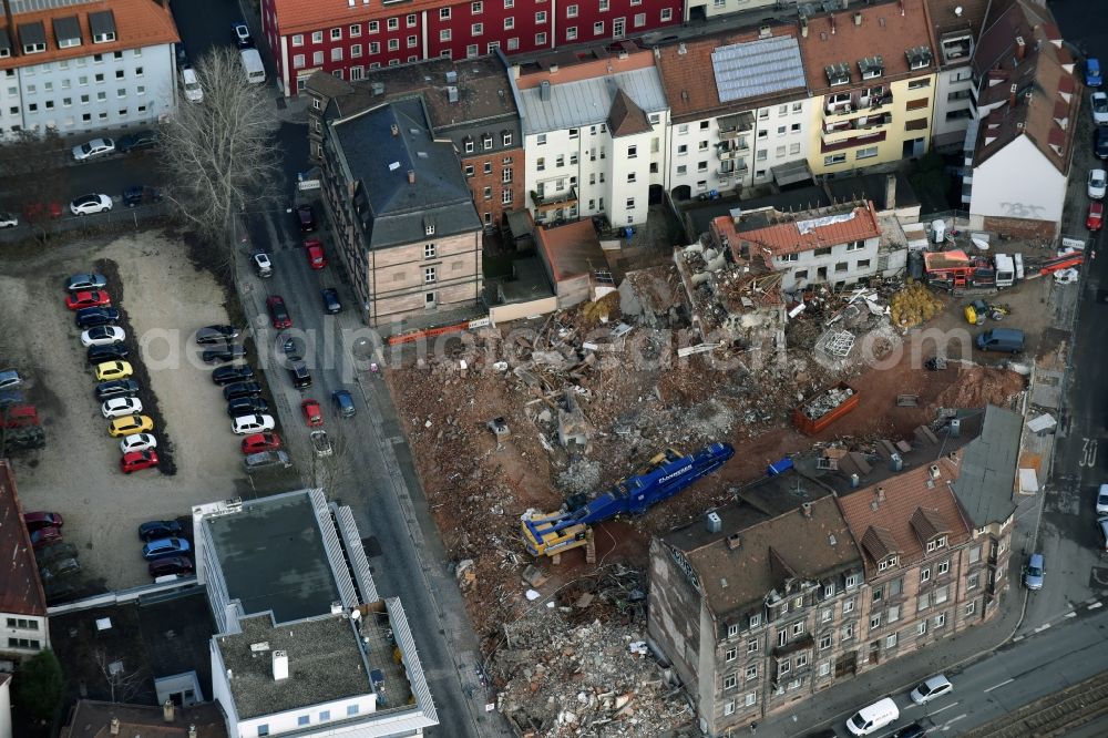
[[0, 14], [0, 137], [148, 125], [176, 103], [168, 2], [8, 0]]

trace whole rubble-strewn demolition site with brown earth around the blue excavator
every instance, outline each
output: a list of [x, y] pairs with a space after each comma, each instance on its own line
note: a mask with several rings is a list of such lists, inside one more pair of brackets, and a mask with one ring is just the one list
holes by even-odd
[[[1027, 386], [1017, 357], [934, 340], [972, 328], [968, 298], [926, 276], [787, 294], [702, 238], [620, 277], [387, 371], [490, 703], [520, 735], [691, 730], [645, 643], [650, 537], [796, 454], [910, 439], [944, 409], [1015, 408]], [[1044, 305], [1065, 288], [1047, 276], [1005, 293], [1024, 361], [1049, 348]]]

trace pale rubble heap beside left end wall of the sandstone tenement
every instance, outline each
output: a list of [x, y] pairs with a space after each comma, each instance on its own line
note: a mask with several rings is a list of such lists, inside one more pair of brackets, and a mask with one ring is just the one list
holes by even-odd
[[496, 707], [519, 735], [660, 736], [688, 727], [673, 674], [646, 646], [644, 578], [606, 567], [595, 584], [536, 599], [504, 625], [488, 672]]

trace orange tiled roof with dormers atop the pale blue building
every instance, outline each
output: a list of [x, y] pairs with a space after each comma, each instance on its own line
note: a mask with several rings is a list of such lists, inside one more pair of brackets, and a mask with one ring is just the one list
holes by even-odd
[[[115, 18], [115, 41], [93, 43], [92, 31], [89, 30], [89, 14], [104, 10], [111, 10]], [[81, 45], [59, 49], [51, 21], [73, 16], [76, 16], [78, 22], [81, 24]], [[111, 53], [124, 49], [175, 43], [181, 40], [168, 3], [163, 8], [155, 0], [94, 0], [93, 2], [61, 6], [50, 10], [18, 13], [13, 20], [16, 29], [24, 23], [42, 21], [47, 31], [47, 50], [38, 54], [20, 54], [0, 59], [0, 70], [16, 69], [27, 64], [44, 64], [62, 59], [76, 59], [90, 54]], [[7, 28], [7, 18], [0, 13], [0, 28]], [[12, 45], [16, 45], [18, 31], [9, 29], [8, 35], [11, 37]]]

